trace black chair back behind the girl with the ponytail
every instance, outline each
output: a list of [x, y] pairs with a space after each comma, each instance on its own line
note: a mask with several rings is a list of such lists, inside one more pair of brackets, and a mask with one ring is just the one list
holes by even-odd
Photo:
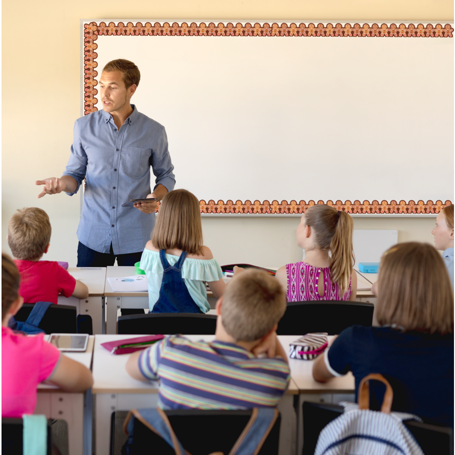
[[327, 332], [338, 335], [346, 327], [373, 323], [373, 303], [320, 300], [289, 302], [278, 323], [278, 335], [304, 335]]

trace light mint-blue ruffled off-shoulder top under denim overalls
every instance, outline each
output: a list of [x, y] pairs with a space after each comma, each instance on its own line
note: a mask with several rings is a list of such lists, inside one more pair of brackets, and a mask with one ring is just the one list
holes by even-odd
[[[169, 265], [175, 265], [180, 256], [166, 254]], [[148, 250], [142, 253], [140, 267], [145, 270], [149, 282], [149, 307], [153, 311], [155, 303], [160, 297], [161, 282], [163, 280], [163, 264], [161, 264], [159, 251]], [[207, 301], [206, 281], [218, 281], [223, 277], [221, 267], [215, 259], [186, 258], [181, 268], [181, 278], [191, 298], [203, 313], [210, 309]]]

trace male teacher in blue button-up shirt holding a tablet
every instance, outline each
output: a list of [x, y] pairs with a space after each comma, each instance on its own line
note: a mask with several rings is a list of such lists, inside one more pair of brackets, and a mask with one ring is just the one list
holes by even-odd
[[[134, 265], [155, 225], [157, 202], [122, 207], [130, 199], [157, 198], [174, 188], [174, 167], [164, 126], [130, 104], [141, 74], [128, 60], [112, 60], [100, 78], [103, 110], [74, 123], [71, 156], [62, 177], [36, 180], [41, 198], [86, 187], [77, 229], [78, 267]], [[150, 166], [156, 176], [150, 191]]]

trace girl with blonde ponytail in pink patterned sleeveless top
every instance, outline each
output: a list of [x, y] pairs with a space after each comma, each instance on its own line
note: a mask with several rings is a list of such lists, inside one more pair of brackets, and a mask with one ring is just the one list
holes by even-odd
[[280, 267], [276, 278], [288, 302], [355, 300], [352, 218], [328, 205], [308, 207], [297, 228], [297, 245], [305, 259]]

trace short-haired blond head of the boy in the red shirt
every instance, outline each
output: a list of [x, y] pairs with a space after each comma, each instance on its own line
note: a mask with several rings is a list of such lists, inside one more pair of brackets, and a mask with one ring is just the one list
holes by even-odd
[[37, 261], [51, 240], [48, 214], [37, 207], [18, 210], [8, 224], [8, 245], [16, 259]]

